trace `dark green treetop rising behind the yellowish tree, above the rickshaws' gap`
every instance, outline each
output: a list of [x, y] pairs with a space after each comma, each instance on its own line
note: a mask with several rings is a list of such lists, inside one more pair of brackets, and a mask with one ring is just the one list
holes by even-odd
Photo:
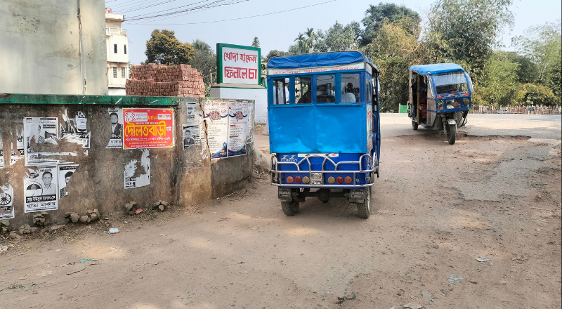
[[365, 18], [362, 20], [365, 30], [361, 35], [360, 46], [369, 45], [377, 37], [379, 29], [389, 23], [402, 27], [417, 38], [421, 30], [419, 22], [421, 22], [419, 14], [405, 6], [383, 4], [382, 2], [377, 6], [371, 4], [365, 11]]

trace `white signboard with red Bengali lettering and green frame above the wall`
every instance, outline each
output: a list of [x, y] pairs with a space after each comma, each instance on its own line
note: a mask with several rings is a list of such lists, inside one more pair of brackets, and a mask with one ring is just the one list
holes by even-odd
[[259, 85], [261, 83], [261, 49], [216, 44], [218, 83]]

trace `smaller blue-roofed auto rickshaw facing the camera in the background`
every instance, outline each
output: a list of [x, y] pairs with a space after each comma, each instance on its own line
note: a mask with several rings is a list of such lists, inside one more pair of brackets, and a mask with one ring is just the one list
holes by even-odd
[[468, 73], [455, 63], [410, 67], [408, 117], [412, 128], [444, 130], [452, 145], [457, 128], [466, 124], [473, 92]]

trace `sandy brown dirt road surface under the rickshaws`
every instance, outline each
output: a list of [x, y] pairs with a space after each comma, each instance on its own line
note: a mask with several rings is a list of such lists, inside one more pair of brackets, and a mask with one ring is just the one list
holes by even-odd
[[381, 117], [367, 220], [344, 199], [287, 217], [255, 173], [206, 204], [0, 239], [0, 308], [561, 308], [561, 117], [469, 117], [455, 145]]

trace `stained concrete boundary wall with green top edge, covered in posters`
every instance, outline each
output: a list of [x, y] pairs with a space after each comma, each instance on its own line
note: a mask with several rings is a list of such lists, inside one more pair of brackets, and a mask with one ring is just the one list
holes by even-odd
[[[224, 159], [210, 159], [209, 148], [202, 147], [202, 144], [207, 143], [183, 147], [182, 126], [187, 123], [186, 103], [195, 103], [200, 108], [204, 100], [208, 99], [0, 95], [0, 140], [4, 149], [0, 187], [11, 185], [13, 188], [15, 218], [10, 219], [11, 227], [32, 225], [34, 215], [24, 212], [27, 189], [24, 188], [24, 178], [32, 173], [34, 166], [25, 166], [24, 157], [18, 155], [18, 136], [22, 136], [23, 119], [26, 117], [58, 117], [60, 130], [64, 127], [65, 117], [78, 119], [77, 115], [84, 115], [87, 120], [85, 127], [90, 133], [89, 148], [72, 138], [56, 140], [56, 143], [31, 142], [34, 150], [51, 154], [46, 156], [49, 159], [79, 164], [66, 185], [68, 195], [58, 197], [58, 210], [48, 211], [46, 223], [64, 223], [66, 212], [83, 214], [89, 209], [98, 209], [105, 215], [122, 214], [124, 204], [130, 201], [137, 202], [142, 209], [159, 200], [189, 206], [244, 188], [251, 181], [253, 142], [246, 145], [247, 155]], [[253, 100], [246, 101], [253, 107]], [[148, 154], [146, 150], [107, 148], [112, 137], [108, 109], [114, 108], [173, 109], [174, 147], [149, 149]], [[253, 124], [253, 117], [249, 121]], [[206, 127], [202, 127], [206, 131]], [[15, 155], [11, 154], [12, 150]], [[145, 172], [138, 162], [146, 161], [147, 158], [150, 161], [150, 185], [125, 189], [126, 167], [131, 162], [137, 162], [135, 176], [138, 176]]]

